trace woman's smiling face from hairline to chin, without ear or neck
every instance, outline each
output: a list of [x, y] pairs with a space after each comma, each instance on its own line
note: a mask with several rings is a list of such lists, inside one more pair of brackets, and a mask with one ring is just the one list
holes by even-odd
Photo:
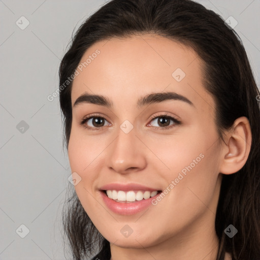
[[[81, 62], [68, 153], [96, 228], [111, 243], [136, 248], [214, 229], [221, 147], [197, 53], [143, 35], [95, 43]], [[87, 94], [102, 95], [107, 106]], [[101, 190], [121, 191], [108, 191], [121, 202]], [[136, 201], [122, 203], [124, 194]]]

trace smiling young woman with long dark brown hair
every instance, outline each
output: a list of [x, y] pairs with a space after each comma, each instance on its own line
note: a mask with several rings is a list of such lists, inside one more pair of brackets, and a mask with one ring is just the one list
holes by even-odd
[[260, 259], [259, 90], [221, 17], [113, 0], [59, 76], [74, 259]]

